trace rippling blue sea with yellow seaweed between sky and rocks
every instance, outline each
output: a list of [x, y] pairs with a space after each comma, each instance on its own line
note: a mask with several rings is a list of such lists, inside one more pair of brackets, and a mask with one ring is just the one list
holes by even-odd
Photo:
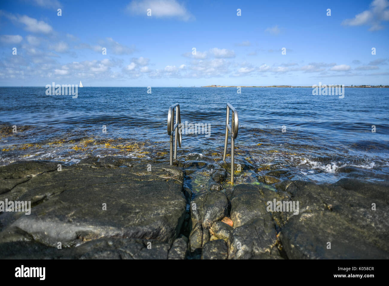
[[[44, 87], [1, 87], [0, 164], [73, 164], [91, 155], [168, 159], [167, 113], [174, 103], [180, 103], [182, 123], [210, 126], [210, 134], [182, 134], [178, 157], [214, 164], [223, 154], [227, 102], [239, 115], [235, 162], [246, 166], [236, 173], [238, 183], [254, 183], [273, 169], [315, 182], [389, 178], [385, 88], [346, 88], [340, 99], [314, 96], [310, 88], [242, 88], [237, 94], [236, 88], [152, 87], [147, 94], [147, 87], [83, 87], [73, 99], [48, 96]], [[230, 152], [230, 140], [228, 146]], [[193, 171], [191, 188], [206, 190], [209, 168]]]

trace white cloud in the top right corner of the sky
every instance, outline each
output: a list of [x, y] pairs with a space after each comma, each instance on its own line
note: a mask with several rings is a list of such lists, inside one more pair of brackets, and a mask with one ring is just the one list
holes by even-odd
[[389, 2], [387, 0], [374, 0], [370, 4], [369, 10], [364, 10], [363, 12], [355, 15], [352, 19], [345, 19], [342, 22], [342, 25], [345, 26], [361, 26], [368, 25], [370, 26], [369, 31], [377, 31], [384, 28], [381, 25], [382, 21], [389, 21]]

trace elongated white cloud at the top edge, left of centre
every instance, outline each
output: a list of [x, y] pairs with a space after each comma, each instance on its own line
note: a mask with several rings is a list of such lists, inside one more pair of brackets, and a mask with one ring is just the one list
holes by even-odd
[[183, 21], [194, 19], [184, 4], [180, 4], [175, 0], [134, 0], [128, 4], [127, 9], [132, 14], [147, 15], [147, 9], [151, 9], [152, 17], [174, 17]]

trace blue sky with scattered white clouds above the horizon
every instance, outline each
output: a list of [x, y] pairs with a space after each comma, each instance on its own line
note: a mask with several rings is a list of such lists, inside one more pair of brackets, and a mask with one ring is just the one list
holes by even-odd
[[387, 0], [14, 0], [0, 85], [388, 85], [388, 31]]

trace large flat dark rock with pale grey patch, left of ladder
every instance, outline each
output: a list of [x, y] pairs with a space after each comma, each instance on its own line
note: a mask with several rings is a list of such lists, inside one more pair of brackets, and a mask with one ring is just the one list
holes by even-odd
[[[26, 237], [48, 247], [56, 247], [57, 242], [72, 247], [101, 237], [130, 237], [166, 242], [170, 248], [186, 214], [182, 170], [150, 161], [123, 168], [119, 166], [129, 163], [115, 157], [103, 164], [97, 159], [89, 161], [94, 167], [84, 160], [80, 166], [63, 166], [62, 171], [53, 172], [42, 170], [56, 170], [56, 164], [19, 163], [22, 170], [26, 164], [29, 171], [25, 174], [38, 175], [1, 195], [0, 201], [32, 201], [36, 206], [31, 215], [0, 215], [0, 253], [8, 242], [25, 241]], [[151, 172], [147, 171], [149, 163]], [[0, 167], [0, 178], [7, 178], [9, 166]], [[107, 210], [102, 209], [103, 203]]]

